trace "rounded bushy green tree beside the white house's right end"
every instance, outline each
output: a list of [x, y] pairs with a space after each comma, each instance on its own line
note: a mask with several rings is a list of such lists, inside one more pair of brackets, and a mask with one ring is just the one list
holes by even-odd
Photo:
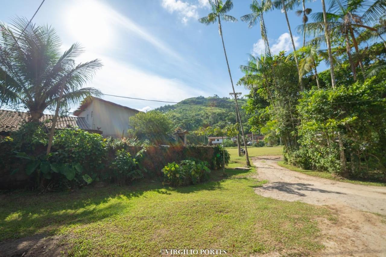
[[138, 139], [150, 140], [154, 144], [166, 144], [173, 129], [171, 120], [160, 111], [137, 113], [129, 118], [129, 134]]

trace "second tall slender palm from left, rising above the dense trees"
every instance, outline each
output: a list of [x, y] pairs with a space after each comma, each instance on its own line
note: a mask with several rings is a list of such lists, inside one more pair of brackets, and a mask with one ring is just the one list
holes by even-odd
[[260, 23], [260, 31], [261, 31], [261, 38], [264, 40], [264, 44], [266, 46], [266, 53], [268, 55], [271, 55], [271, 50], [269, 48], [269, 42], [267, 37], [267, 28], [264, 23], [264, 12], [271, 9], [271, 1], [264, 1], [262, 0], [260, 3], [257, 0], [253, 0], [251, 5], [249, 5], [249, 8], [251, 8], [252, 13], [243, 15], [240, 20], [243, 22], [248, 22], [248, 27], [251, 29], [254, 25], [256, 25], [258, 22]]

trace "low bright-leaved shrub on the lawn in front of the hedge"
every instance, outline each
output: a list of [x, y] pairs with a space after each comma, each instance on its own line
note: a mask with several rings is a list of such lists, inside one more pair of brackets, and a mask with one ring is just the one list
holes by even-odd
[[210, 169], [206, 162], [184, 160], [179, 163], [168, 163], [163, 169], [165, 180], [171, 186], [186, 186], [202, 183], [208, 179]]

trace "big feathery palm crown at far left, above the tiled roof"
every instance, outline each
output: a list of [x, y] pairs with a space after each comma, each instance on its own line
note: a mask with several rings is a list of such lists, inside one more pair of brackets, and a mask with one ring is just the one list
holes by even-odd
[[38, 122], [44, 110], [60, 99], [68, 108], [101, 94], [82, 87], [102, 67], [100, 60], [76, 65], [74, 59], [83, 52], [78, 43], [60, 54], [61, 41], [54, 29], [27, 24], [25, 18], [16, 18], [11, 26], [0, 24], [1, 103], [25, 106], [30, 121]]

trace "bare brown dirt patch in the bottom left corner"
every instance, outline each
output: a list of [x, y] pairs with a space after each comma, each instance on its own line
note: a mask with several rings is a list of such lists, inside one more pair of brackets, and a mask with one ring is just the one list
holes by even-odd
[[1, 257], [63, 256], [66, 236], [46, 237], [42, 234], [0, 243]]

